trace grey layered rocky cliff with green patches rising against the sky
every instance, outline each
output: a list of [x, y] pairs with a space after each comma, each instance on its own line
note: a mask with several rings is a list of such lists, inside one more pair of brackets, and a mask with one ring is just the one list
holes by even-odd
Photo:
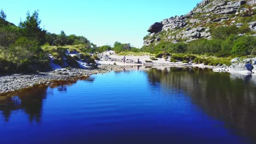
[[211, 39], [213, 28], [229, 25], [249, 27], [249, 34], [255, 35], [255, 13], [256, 0], [203, 0], [186, 15], [155, 22], [144, 37], [144, 45], [158, 44], [161, 40], [189, 43], [200, 38]]

